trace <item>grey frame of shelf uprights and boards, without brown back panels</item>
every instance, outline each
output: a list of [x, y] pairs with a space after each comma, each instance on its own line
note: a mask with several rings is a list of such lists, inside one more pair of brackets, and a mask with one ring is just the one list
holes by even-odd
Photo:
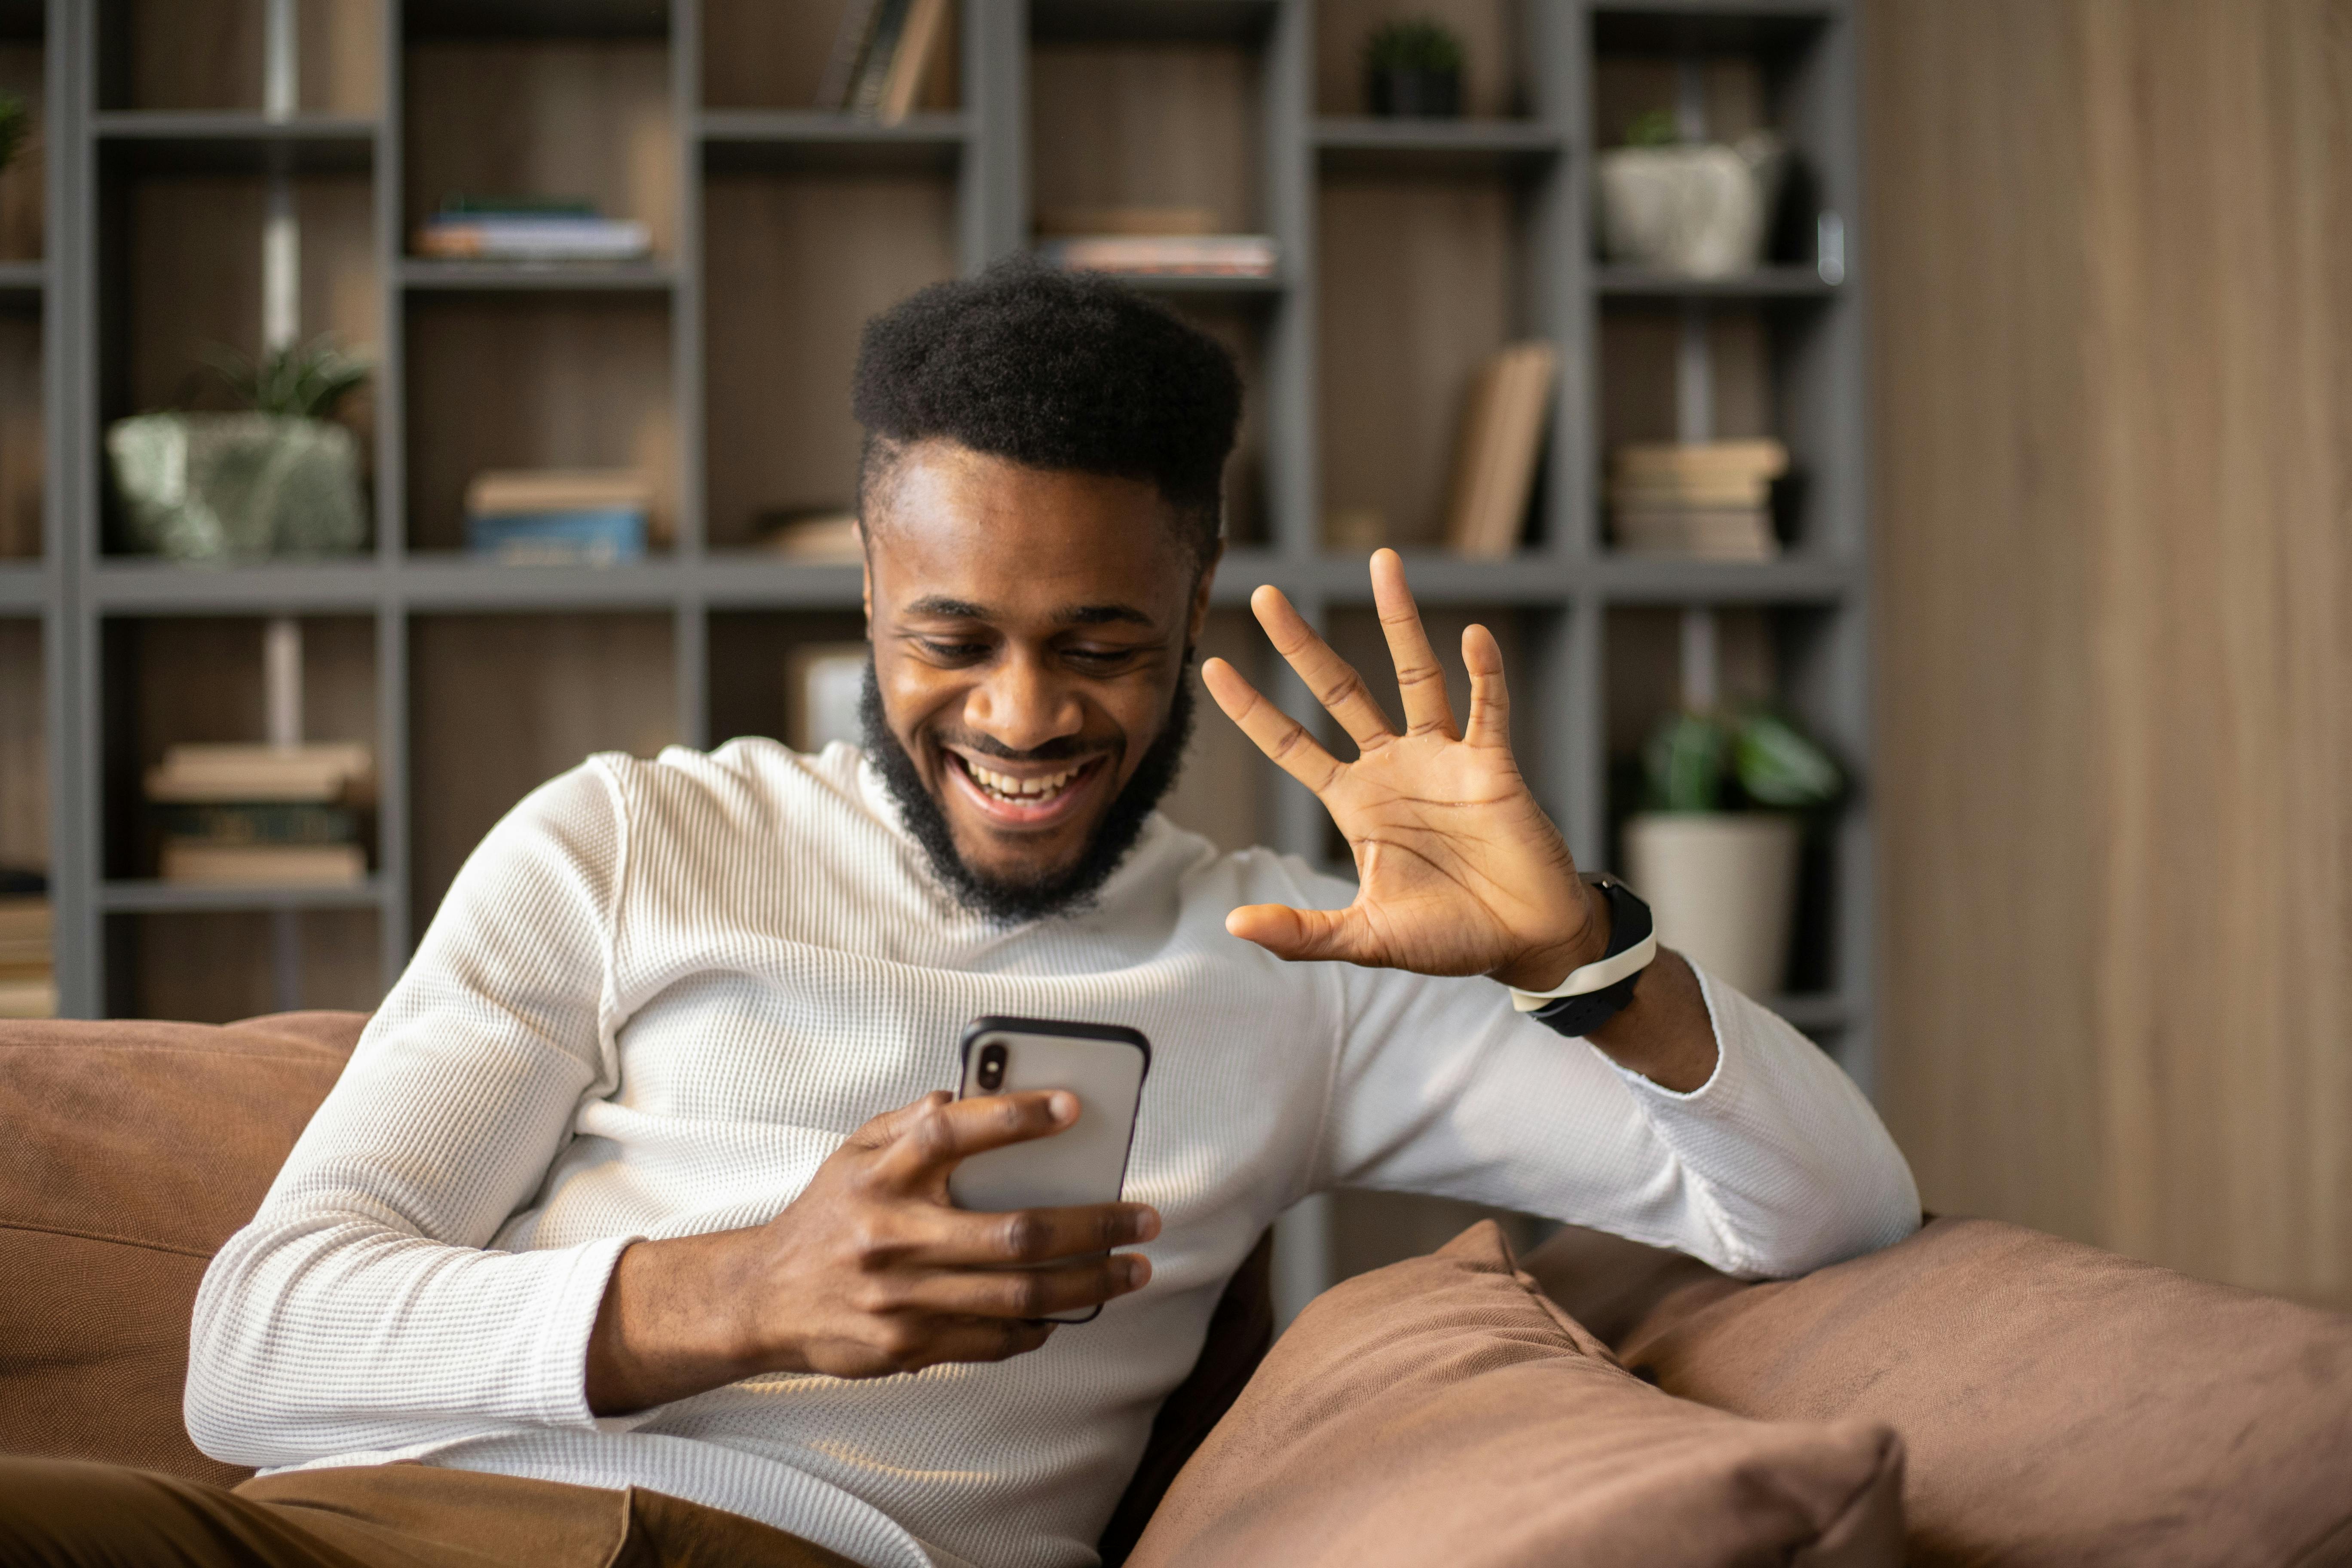
[[[0, 614], [42, 616], [49, 684], [52, 872], [64, 1011], [96, 1016], [106, 994], [103, 924], [155, 910], [369, 907], [379, 914], [386, 980], [419, 936], [409, 907], [409, 621], [492, 611], [663, 611], [673, 621], [680, 741], [708, 736], [708, 625], [713, 614], [840, 611], [858, 602], [854, 567], [795, 564], [715, 550], [703, 517], [701, 181], [713, 169], [929, 169], [955, 183], [957, 256], [976, 270], [1025, 247], [1028, 56], [1054, 38], [1221, 38], [1261, 54], [1263, 205], [1282, 270], [1263, 282], [1150, 280], [1171, 296], [1237, 296], [1258, 313], [1265, 376], [1268, 541], [1228, 555], [1216, 602], [1232, 607], [1256, 583], [1277, 583], [1315, 623], [1369, 604], [1359, 559], [1319, 543], [1317, 475], [1317, 188], [1327, 176], [1411, 174], [1508, 179], [1526, 202], [1529, 280], [1519, 315], [1562, 348], [1564, 376], [1550, 425], [1541, 541], [1512, 559], [1409, 557], [1425, 604], [1503, 607], [1534, 628], [1526, 668], [1515, 670], [1519, 710], [1531, 712], [1531, 778], [1585, 865], [1609, 858], [1609, 757], [1604, 745], [1606, 616], [1616, 607], [1755, 604], [1809, 616], [1811, 656], [1790, 677], [1790, 701], [1846, 757], [1870, 755], [1867, 527], [1865, 527], [1865, 237], [1860, 209], [1856, 40], [1851, 0], [1526, 0], [1526, 115], [1517, 120], [1399, 122], [1327, 115], [1315, 103], [1312, 0], [964, 0], [962, 106], [877, 127], [800, 110], [706, 108], [699, 101], [701, 12], [708, 0], [668, 0], [670, 89], [677, 125], [677, 247], [642, 266], [593, 270], [419, 261], [402, 233], [402, 63], [409, 16], [452, 31], [510, 33], [640, 31], [644, 7], [560, 7], [543, 0], [480, 0], [470, 7], [383, 0], [381, 113], [367, 120], [254, 113], [139, 113], [96, 108], [101, 7], [47, 0], [49, 259], [0, 266], [0, 308], [40, 303], [49, 397], [45, 498], [47, 555], [0, 564]], [[1592, 261], [1590, 89], [1599, 47], [1755, 49], [1776, 56], [1783, 122], [1804, 150], [1823, 207], [1844, 219], [1849, 266], [1835, 284], [1804, 266], [1689, 282]], [[353, 559], [273, 562], [228, 569], [172, 567], [106, 555], [99, 475], [96, 277], [101, 179], [125, 169], [367, 169], [376, 200], [376, 277], [383, 343], [376, 371], [376, 541]], [[666, 555], [612, 569], [496, 567], [407, 548], [407, 313], [452, 292], [630, 292], [661, 301], [670, 320], [680, 449], [677, 534]], [[1762, 306], [1804, 313], [1806, 348], [1785, 369], [1788, 437], [1811, 475], [1804, 541], [1764, 564], [1621, 559], [1602, 548], [1597, 520], [1599, 320], [1611, 308]], [[113, 618], [365, 614], [376, 628], [381, 832], [376, 872], [353, 889], [179, 889], [106, 882], [101, 755], [101, 630]], [[1296, 679], [1279, 701], [1308, 715]], [[1272, 844], [1322, 858], [1319, 806], [1265, 771]], [[1870, 799], [1860, 790], [1835, 827], [1830, 933], [1835, 980], [1783, 999], [1863, 1086], [1872, 1079], [1872, 889]]]

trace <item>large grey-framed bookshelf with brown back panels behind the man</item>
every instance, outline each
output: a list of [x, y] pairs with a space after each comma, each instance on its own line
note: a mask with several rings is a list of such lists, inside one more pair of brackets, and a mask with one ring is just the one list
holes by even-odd
[[[1611, 778], [1672, 703], [1686, 607], [1717, 611], [1729, 684], [1867, 759], [1846, 0], [1423, 0], [1406, 9], [1470, 49], [1468, 115], [1444, 122], [1364, 113], [1355, 49], [1388, 0], [960, 0], [948, 61], [894, 127], [804, 108], [833, 0], [296, 0], [301, 96], [278, 115], [268, 9], [0, 5], [0, 78], [45, 92], [45, 183], [0, 179], [0, 846], [47, 839], [71, 1013], [365, 1006], [466, 849], [548, 773], [595, 748], [779, 733], [786, 658], [856, 635], [858, 581], [753, 550], [755, 520], [849, 501], [863, 317], [1028, 244], [1047, 207], [1197, 205], [1279, 242], [1272, 280], [1152, 284], [1247, 376], [1204, 651], [1305, 710], [1242, 609], [1270, 581], [1381, 668], [1362, 559], [1322, 524], [1378, 508], [1442, 635], [1482, 616], [1503, 637], [1522, 752], [1581, 863], [1613, 860], [1630, 799]], [[1592, 259], [1590, 158], [1661, 101], [1726, 132], [1769, 122], [1799, 150], [1809, 200], [1771, 266], [1693, 284]], [[195, 341], [254, 343], [275, 174], [299, 209], [303, 331], [376, 353], [346, 414], [369, 454], [372, 548], [223, 569], [122, 555], [106, 421], [181, 395]], [[644, 221], [654, 254], [419, 261], [407, 233], [449, 188], [595, 195]], [[1816, 254], [1823, 212], [1842, 268]], [[1463, 383], [1517, 336], [1564, 360], [1531, 543], [1449, 557]], [[1712, 430], [1797, 451], [1780, 559], [1604, 543], [1602, 454], [1686, 428], [1693, 376]], [[607, 569], [463, 555], [466, 477], [534, 463], [652, 468], [654, 552]], [[303, 618], [318, 733], [376, 745], [374, 875], [153, 882], [139, 759], [259, 738], [270, 616]], [[45, 701], [19, 696], [33, 689]], [[1181, 820], [1336, 858], [1303, 790], [1214, 712], [1200, 733]], [[287, 919], [292, 945], [268, 936]], [[1867, 790], [1813, 849], [1799, 933], [1783, 1006], [1867, 1086]], [[1291, 1251], [1367, 1255], [1364, 1237], [1446, 1218], [1350, 1197]]]

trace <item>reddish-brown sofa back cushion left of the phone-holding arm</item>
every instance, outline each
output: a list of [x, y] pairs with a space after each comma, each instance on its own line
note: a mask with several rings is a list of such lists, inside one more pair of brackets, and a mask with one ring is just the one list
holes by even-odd
[[365, 1023], [0, 1025], [0, 1453], [247, 1474], [181, 1427], [188, 1312]]

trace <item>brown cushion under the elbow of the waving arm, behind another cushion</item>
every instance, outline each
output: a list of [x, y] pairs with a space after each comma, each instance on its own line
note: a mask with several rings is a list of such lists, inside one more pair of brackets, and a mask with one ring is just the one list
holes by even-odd
[[1900, 1432], [1912, 1563], [2352, 1561], [2352, 1316], [1994, 1220], [1757, 1286], [1592, 1232], [1529, 1272], [1672, 1394]]

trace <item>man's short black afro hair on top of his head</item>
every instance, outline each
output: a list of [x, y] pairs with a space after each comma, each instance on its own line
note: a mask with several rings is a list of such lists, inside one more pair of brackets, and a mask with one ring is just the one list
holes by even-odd
[[1216, 339], [1134, 289], [1014, 256], [866, 322], [851, 409], [861, 510], [908, 444], [946, 437], [1028, 468], [1143, 480], [1207, 557], [1242, 376]]

